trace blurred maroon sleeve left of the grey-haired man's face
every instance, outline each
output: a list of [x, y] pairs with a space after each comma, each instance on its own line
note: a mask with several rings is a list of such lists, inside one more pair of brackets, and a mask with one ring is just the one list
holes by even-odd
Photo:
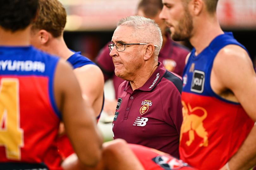
[[[111, 43], [111, 42], [109, 42]], [[101, 68], [104, 74], [105, 81], [112, 78], [115, 74], [115, 66], [113, 64], [112, 57], [109, 55], [108, 44], [107, 43], [100, 51], [100, 54], [96, 57], [95, 63]]]

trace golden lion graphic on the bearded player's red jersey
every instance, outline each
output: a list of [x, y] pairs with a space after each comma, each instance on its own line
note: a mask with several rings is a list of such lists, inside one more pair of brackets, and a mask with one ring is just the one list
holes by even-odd
[[[207, 117], [207, 111], [203, 107], [194, 107], [191, 108], [190, 104], [186, 106], [186, 103], [182, 101], [182, 115], [183, 115], [183, 123], [181, 125], [181, 135], [180, 135], [180, 141], [182, 139], [182, 134], [188, 132], [189, 134], [189, 140], [186, 141], [186, 145], [190, 146], [190, 144], [194, 141], [195, 136], [194, 132], [201, 138], [203, 138], [203, 143], [199, 144], [200, 147], [208, 146], [208, 133], [206, 132], [203, 121]], [[198, 116], [195, 114], [192, 114], [196, 110], [202, 110], [204, 112], [203, 116]], [[188, 111], [190, 114], [188, 114]]]

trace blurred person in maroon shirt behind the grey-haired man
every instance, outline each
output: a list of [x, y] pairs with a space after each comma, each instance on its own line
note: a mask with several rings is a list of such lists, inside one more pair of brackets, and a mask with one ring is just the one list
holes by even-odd
[[[164, 20], [159, 18], [159, 14], [163, 8], [162, 0], [140, 0], [137, 6], [137, 15], [143, 16], [155, 20], [162, 32], [162, 48], [158, 55], [158, 61], [160, 61], [163, 66], [169, 70], [182, 75], [183, 69], [185, 67], [185, 59], [189, 50], [170, 38], [168, 28]], [[112, 58], [109, 57], [109, 51], [104, 47], [100, 54], [96, 58], [96, 64], [101, 68], [104, 74], [105, 81], [108, 79], [113, 80], [113, 87], [115, 91], [115, 99], [109, 100], [105, 99], [104, 111], [112, 115], [115, 113], [115, 106], [117, 103], [117, 92], [120, 84], [124, 80], [114, 74], [115, 67], [113, 65]]]

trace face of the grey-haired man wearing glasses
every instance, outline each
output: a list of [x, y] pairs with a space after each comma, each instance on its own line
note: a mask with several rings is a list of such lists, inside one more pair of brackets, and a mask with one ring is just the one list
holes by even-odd
[[[144, 43], [138, 42], [132, 36], [134, 29], [128, 26], [119, 26], [113, 33], [112, 43]], [[117, 51], [116, 46], [110, 52], [115, 65], [116, 76], [131, 81], [143, 65], [143, 48], [145, 45], [125, 45], [124, 51]]]

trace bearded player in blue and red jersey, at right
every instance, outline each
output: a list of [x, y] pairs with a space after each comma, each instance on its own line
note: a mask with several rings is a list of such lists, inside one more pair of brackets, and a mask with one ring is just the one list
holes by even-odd
[[183, 73], [180, 158], [199, 169], [256, 164], [256, 75], [246, 48], [224, 33], [218, 0], [163, 0], [160, 18], [194, 47]]

